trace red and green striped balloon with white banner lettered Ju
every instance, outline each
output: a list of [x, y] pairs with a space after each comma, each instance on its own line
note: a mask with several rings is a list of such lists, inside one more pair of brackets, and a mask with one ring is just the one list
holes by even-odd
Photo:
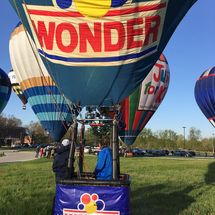
[[121, 102], [120, 115], [125, 126], [120, 139], [131, 145], [162, 102], [169, 85], [169, 66], [162, 54], [150, 73], [129, 97]]

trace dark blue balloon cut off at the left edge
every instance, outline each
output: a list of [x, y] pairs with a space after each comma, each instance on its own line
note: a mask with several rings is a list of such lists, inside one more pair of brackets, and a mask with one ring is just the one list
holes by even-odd
[[7, 105], [11, 94], [11, 83], [7, 74], [0, 69], [0, 114]]

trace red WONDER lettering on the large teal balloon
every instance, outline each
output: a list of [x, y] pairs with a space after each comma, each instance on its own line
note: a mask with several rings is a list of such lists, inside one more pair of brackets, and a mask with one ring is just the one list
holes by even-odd
[[[60, 23], [38, 21], [33, 26], [38, 40], [46, 50], [57, 48], [64, 53], [113, 52], [141, 48], [158, 40], [160, 16], [133, 18], [121, 22]], [[37, 25], [36, 25], [37, 24]], [[65, 36], [66, 35], [66, 36]]]

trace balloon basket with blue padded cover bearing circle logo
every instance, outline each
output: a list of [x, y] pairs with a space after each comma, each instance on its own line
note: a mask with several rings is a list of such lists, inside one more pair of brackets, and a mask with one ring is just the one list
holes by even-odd
[[92, 173], [81, 178], [56, 181], [54, 215], [131, 215], [130, 177], [95, 180]]

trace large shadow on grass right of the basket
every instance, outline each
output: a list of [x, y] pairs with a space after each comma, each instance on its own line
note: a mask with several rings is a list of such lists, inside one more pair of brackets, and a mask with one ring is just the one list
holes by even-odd
[[193, 186], [173, 190], [168, 184], [150, 185], [132, 191], [132, 215], [178, 215], [195, 202], [189, 192]]

